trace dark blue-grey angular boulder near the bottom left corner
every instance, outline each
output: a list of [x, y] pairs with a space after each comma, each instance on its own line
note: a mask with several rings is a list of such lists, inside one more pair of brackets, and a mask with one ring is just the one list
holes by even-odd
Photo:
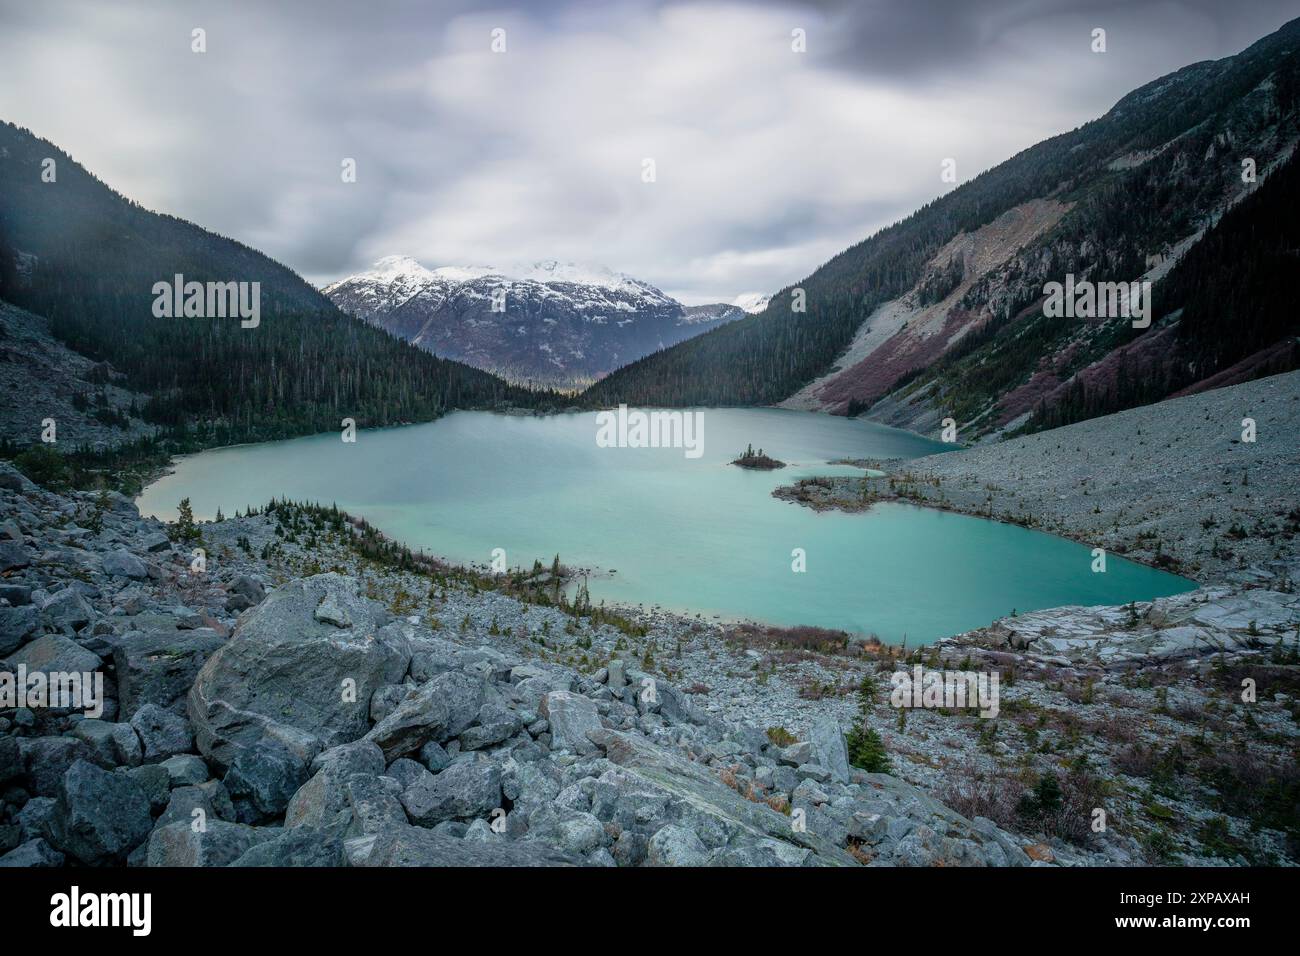
[[153, 817], [130, 775], [78, 760], [64, 774], [49, 826], [57, 849], [100, 864], [124, 860], [150, 835]]

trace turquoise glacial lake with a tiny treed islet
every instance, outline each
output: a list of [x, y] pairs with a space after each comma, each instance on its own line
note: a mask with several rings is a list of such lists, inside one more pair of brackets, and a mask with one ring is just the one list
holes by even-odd
[[[815, 512], [771, 497], [837, 458], [916, 458], [949, 446], [866, 421], [776, 408], [706, 408], [703, 454], [599, 447], [594, 412], [455, 412], [438, 421], [204, 451], [150, 485], [146, 515], [234, 514], [272, 497], [334, 502], [455, 562], [597, 571], [593, 598], [724, 619], [815, 624], [915, 645], [1015, 610], [1122, 604], [1195, 587], [1083, 545], [902, 503]], [[789, 464], [728, 462], [748, 444]], [[792, 571], [793, 549], [806, 554]], [[614, 571], [614, 574], [610, 574]]]

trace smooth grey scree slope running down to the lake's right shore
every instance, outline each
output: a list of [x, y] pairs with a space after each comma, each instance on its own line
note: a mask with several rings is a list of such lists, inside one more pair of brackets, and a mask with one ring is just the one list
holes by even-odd
[[[1240, 441], [1244, 416], [1256, 423], [1254, 441]], [[880, 460], [889, 475], [867, 484], [876, 499], [1030, 527], [1202, 585], [1290, 585], [1300, 578], [1297, 418], [1300, 372], [1288, 372], [992, 445]], [[774, 494], [857, 511], [862, 486], [805, 479]]]

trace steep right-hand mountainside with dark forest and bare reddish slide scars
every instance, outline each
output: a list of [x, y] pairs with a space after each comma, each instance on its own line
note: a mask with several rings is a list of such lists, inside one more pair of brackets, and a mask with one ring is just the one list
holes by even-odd
[[[794, 286], [806, 294], [806, 312], [792, 311], [794, 287], [784, 289], [760, 315], [642, 359], [586, 397], [593, 405], [789, 399], [838, 414], [870, 410], [922, 431], [952, 415], [963, 438], [1072, 420], [1089, 414], [1086, 406], [1123, 407], [1136, 393], [1084, 401], [1078, 393], [1088, 389], [1075, 376], [1135, 339], [1197, 337], [1192, 326], [1171, 330], [1183, 313], [1165, 308], [1174, 280], [1164, 277], [1286, 164], [1300, 134], [1297, 88], [1300, 21], [1292, 21], [1238, 56], [1193, 64], [1134, 91], [1104, 117], [1018, 153], [846, 250]], [[1247, 159], [1254, 182], [1243, 179]], [[1256, 250], [1249, 230], [1232, 235], [1239, 265], [1277, 255]], [[1044, 285], [1067, 273], [1093, 282], [1154, 281], [1158, 320], [1136, 330], [1127, 319], [1045, 317]], [[1252, 265], [1242, 281], [1253, 287], [1266, 274]], [[1271, 300], [1265, 290], [1251, 295]], [[1242, 328], [1228, 337], [1236, 342], [1295, 332], [1258, 312], [1234, 315]], [[1290, 367], [1279, 342], [1261, 346], [1275, 346], [1261, 373]], [[1199, 380], [1248, 358], [1236, 346], [1197, 349]], [[1193, 384], [1183, 377], [1148, 382], [1150, 394], [1138, 398]]]

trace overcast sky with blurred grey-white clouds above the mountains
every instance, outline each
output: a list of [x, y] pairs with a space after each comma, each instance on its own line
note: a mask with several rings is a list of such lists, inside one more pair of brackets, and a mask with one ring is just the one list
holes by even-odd
[[806, 276], [952, 189], [945, 157], [968, 179], [1297, 13], [1295, 0], [0, 0], [0, 118], [312, 282], [391, 254], [430, 268], [554, 258], [701, 303]]

